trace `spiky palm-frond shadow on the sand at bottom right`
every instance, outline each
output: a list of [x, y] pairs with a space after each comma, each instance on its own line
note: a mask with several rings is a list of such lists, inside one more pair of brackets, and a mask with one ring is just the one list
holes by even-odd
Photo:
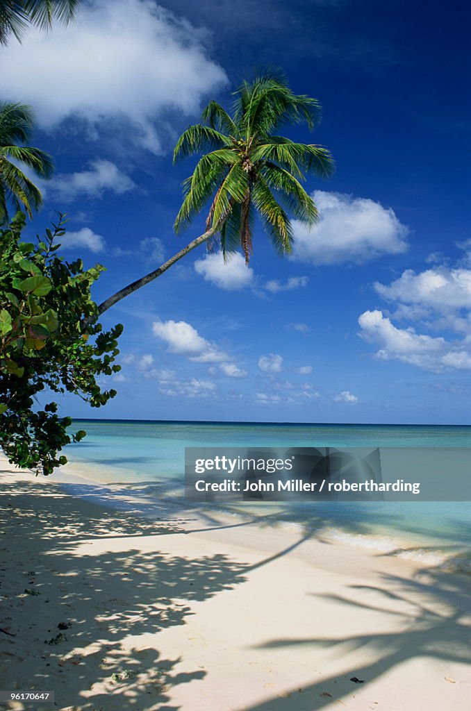
[[[453, 560], [450, 560], [453, 565]], [[460, 564], [460, 556], [457, 556]], [[351, 596], [324, 596], [354, 611], [381, 611], [396, 616], [397, 631], [347, 635], [333, 638], [272, 639], [261, 649], [305, 648], [313, 663], [325, 653], [346, 656], [357, 653], [359, 663], [343, 675], [322, 675], [309, 685], [292, 688], [283, 698], [272, 697], [247, 711], [316, 711], [333, 702], [351, 699], [358, 688], [352, 678], [362, 680], [366, 687], [381, 675], [389, 675], [398, 665], [415, 658], [428, 658], [443, 662], [471, 663], [471, 630], [469, 586], [466, 574], [453, 574], [439, 568], [422, 570], [420, 577], [406, 579], [383, 574], [383, 584], [377, 586], [351, 585]], [[369, 597], [375, 602], [368, 602]], [[378, 602], [379, 601], [379, 602]], [[399, 609], [398, 609], [399, 607]], [[402, 610], [401, 610], [402, 608]], [[362, 663], [367, 656], [371, 663]], [[319, 666], [322, 663], [319, 661]], [[454, 680], [443, 677], [443, 684]], [[420, 684], [420, 680], [418, 680]], [[425, 707], [425, 706], [424, 706]]]

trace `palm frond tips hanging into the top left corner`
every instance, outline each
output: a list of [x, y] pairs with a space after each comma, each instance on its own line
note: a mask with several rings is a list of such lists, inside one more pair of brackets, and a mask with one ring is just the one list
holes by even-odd
[[80, 0], [0, 0], [0, 44], [13, 35], [18, 41], [28, 25], [48, 30], [53, 20], [64, 24], [75, 17]]

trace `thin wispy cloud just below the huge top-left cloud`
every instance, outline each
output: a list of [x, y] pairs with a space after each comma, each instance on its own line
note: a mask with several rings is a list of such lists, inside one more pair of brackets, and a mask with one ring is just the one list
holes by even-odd
[[71, 202], [87, 196], [101, 198], [105, 190], [122, 195], [136, 188], [129, 176], [122, 173], [111, 161], [90, 161], [90, 169], [79, 173], [58, 173], [51, 181], [41, 181], [41, 189], [47, 198]]

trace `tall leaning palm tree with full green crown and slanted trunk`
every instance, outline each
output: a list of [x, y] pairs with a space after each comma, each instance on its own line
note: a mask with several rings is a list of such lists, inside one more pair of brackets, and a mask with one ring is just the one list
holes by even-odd
[[232, 115], [210, 101], [203, 111], [205, 124], [186, 129], [174, 150], [174, 161], [208, 151], [184, 181], [184, 201], [174, 224], [179, 232], [208, 205], [205, 232], [161, 267], [110, 296], [100, 304], [100, 314], [207, 240], [212, 249], [216, 240], [225, 259], [241, 248], [248, 264], [255, 214], [281, 255], [292, 251], [290, 218], [307, 225], [319, 219], [301, 183], [309, 173], [331, 175], [332, 156], [323, 146], [295, 143], [277, 134], [287, 123], [305, 122], [314, 129], [320, 119], [317, 99], [294, 94], [273, 71], [243, 82], [234, 95]]

